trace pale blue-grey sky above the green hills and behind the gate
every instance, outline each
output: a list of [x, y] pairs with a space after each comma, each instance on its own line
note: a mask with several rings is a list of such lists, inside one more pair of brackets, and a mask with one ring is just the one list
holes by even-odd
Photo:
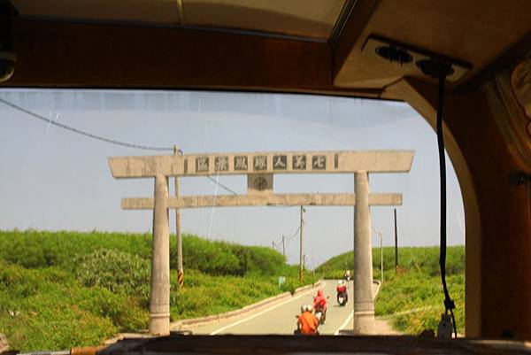
[[[439, 241], [435, 132], [404, 103], [367, 99], [201, 91], [0, 90], [0, 97], [96, 135], [185, 153], [270, 150], [416, 150], [409, 174], [371, 174], [372, 192], [401, 192], [400, 245]], [[153, 181], [114, 180], [107, 157], [160, 154], [102, 143], [50, 126], [0, 103], [0, 228], [150, 230], [151, 212], [122, 211], [122, 197], [150, 197]], [[464, 212], [448, 165], [448, 240], [464, 240]], [[219, 181], [246, 192], [244, 176]], [[276, 175], [275, 192], [353, 192], [351, 174]], [[172, 188], [173, 189], [173, 188]], [[227, 191], [204, 177], [182, 178], [181, 194]], [[307, 207], [304, 253], [316, 263], [353, 245], [352, 207]], [[173, 213], [170, 214], [174, 230]], [[298, 207], [182, 211], [184, 232], [271, 246], [294, 235]], [[372, 208], [373, 228], [394, 243], [393, 207]], [[373, 243], [377, 243], [374, 235]], [[186, 251], [185, 251], [186, 252]], [[288, 245], [296, 263], [298, 241]]]

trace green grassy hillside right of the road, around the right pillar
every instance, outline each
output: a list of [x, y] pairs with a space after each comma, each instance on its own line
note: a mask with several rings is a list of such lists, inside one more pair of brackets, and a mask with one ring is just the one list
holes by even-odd
[[[430, 328], [436, 332], [444, 312], [443, 287], [439, 271], [439, 248], [399, 248], [398, 274], [395, 273], [395, 250], [383, 249], [384, 282], [376, 299], [377, 316], [388, 317], [394, 328], [419, 334]], [[354, 268], [352, 252], [329, 259], [318, 272], [326, 277], [341, 277], [344, 270]], [[465, 247], [448, 248], [447, 283], [456, 304], [458, 332], [465, 329]], [[373, 249], [373, 276], [379, 279], [380, 249]]]

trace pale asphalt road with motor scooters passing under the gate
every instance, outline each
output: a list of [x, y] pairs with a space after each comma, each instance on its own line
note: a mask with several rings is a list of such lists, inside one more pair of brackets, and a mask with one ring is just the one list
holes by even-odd
[[[327, 307], [327, 320], [325, 324], [319, 326], [319, 333], [323, 335], [335, 335], [342, 328], [351, 327], [352, 324], [352, 282], [349, 282], [349, 302], [344, 307], [337, 304], [335, 286], [337, 282], [327, 280], [322, 286], [325, 295], [329, 296]], [[375, 286], [373, 286], [375, 287]], [[374, 290], [374, 289], [373, 289]], [[296, 316], [300, 313], [301, 305], [313, 303], [313, 297], [317, 294], [317, 289], [311, 289], [302, 294], [291, 297], [279, 304], [271, 305], [266, 309], [250, 313], [231, 320], [224, 320], [218, 323], [191, 328], [194, 334], [203, 335], [262, 335], [278, 334], [292, 335], [296, 328]]]

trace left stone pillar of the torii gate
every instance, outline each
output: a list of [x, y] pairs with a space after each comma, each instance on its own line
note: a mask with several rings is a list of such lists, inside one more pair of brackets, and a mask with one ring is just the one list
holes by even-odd
[[170, 335], [170, 229], [168, 184], [164, 175], [155, 177], [153, 208], [153, 257], [151, 258], [150, 335]]

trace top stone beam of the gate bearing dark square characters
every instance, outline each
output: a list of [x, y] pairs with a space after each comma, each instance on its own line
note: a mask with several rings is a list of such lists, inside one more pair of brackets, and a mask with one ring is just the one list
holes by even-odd
[[404, 173], [412, 150], [273, 151], [109, 158], [115, 178], [239, 174]]

